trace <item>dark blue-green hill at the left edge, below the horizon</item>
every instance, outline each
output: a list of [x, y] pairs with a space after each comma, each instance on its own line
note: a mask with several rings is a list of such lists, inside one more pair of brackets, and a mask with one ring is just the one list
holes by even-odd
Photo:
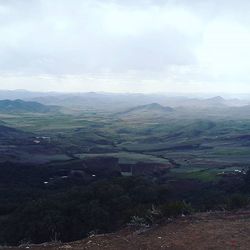
[[23, 100], [0, 100], [0, 112], [30, 112], [30, 113], [47, 113], [58, 109], [56, 106], [47, 106], [38, 102]]

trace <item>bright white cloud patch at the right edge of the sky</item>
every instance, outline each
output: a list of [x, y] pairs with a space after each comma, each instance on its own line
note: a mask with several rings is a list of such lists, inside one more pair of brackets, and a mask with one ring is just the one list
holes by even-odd
[[202, 64], [209, 66], [215, 76], [232, 80], [249, 77], [249, 28], [233, 21], [212, 22], [204, 30], [198, 57]]

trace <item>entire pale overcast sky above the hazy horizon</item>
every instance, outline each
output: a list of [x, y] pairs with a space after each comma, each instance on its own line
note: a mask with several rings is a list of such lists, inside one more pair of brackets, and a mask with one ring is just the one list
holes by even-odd
[[250, 1], [0, 0], [0, 89], [250, 93]]

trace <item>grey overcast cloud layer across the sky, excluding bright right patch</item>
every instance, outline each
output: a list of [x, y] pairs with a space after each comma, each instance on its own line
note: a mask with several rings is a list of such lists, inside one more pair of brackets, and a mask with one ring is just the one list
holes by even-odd
[[163, 82], [157, 75], [165, 74], [173, 84], [188, 84], [190, 75], [194, 81], [213, 81], [213, 70], [197, 70], [203, 67], [197, 51], [204, 30], [222, 20], [248, 31], [249, 9], [246, 0], [0, 0], [0, 76], [100, 78], [108, 72], [115, 82], [116, 75], [125, 79], [135, 71], [133, 82], [150, 75]]

